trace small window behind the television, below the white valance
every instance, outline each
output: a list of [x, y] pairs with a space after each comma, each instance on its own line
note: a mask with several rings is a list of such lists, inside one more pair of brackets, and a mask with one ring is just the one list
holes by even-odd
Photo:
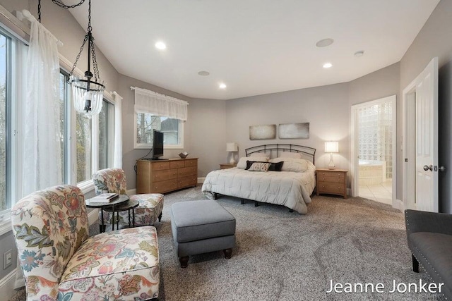
[[135, 125], [134, 147], [136, 149], [153, 147], [153, 130], [160, 130], [164, 133], [165, 149], [184, 148], [184, 123], [179, 119], [136, 112]]

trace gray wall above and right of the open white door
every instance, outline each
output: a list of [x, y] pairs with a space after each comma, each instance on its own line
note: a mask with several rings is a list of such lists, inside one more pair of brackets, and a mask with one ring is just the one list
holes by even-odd
[[439, 165], [448, 168], [439, 173], [439, 207], [452, 213], [452, 1], [441, 0], [400, 61], [400, 95], [429, 61], [439, 61]]

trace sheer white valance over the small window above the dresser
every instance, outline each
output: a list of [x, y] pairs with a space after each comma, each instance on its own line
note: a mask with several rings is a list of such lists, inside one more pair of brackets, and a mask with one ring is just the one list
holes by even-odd
[[186, 121], [188, 102], [150, 90], [135, 90], [135, 111]]

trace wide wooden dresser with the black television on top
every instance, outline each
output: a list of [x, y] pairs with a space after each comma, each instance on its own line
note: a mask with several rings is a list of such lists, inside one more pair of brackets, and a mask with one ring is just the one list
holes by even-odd
[[136, 193], [164, 193], [198, 183], [198, 158], [138, 160]]

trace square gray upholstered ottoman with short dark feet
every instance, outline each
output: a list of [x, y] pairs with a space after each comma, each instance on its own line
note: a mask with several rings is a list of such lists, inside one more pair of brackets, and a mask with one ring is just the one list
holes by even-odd
[[189, 256], [223, 250], [230, 259], [235, 247], [235, 218], [210, 199], [172, 204], [171, 229], [177, 257], [186, 268]]

